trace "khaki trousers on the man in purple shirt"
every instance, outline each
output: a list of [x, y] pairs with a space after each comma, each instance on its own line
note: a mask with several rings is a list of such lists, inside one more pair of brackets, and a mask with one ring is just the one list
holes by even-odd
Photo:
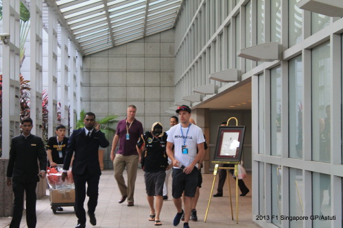
[[[123, 171], [126, 166], [126, 173], [128, 173], [128, 186], [126, 186], [125, 179], [123, 177]], [[136, 182], [138, 168], [138, 155], [123, 156], [121, 154], [115, 155], [113, 161], [113, 170], [115, 171], [115, 179], [118, 183], [118, 187], [121, 196], [127, 196], [128, 202], [134, 202], [134, 183]]]

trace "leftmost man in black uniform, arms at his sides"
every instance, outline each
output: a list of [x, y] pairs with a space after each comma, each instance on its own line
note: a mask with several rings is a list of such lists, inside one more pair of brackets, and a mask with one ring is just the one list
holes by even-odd
[[[10, 228], [19, 228], [23, 216], [24, 191], [26, 193], [27, 227], [36, 227], [36, 186], [45, 177], [47, 153], [41, 138], [31, 134], [32, 119], [21, 121], [23, 134], [12, 138], [7, 168], [7, 185], [13, 187], [13, 217]], [[38, 162], [39, 160], [39, 167]], [[12, 179], [11, 179], [12, 178]]]

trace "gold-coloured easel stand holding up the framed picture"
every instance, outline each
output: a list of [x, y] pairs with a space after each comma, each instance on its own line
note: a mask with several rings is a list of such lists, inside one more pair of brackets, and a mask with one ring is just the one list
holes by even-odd
[[[226, 126], [228, 126], [228, 123], [230, 122], [231, 119], [235, 119], [236, 121], [236, 126], [238, 125], [238, 120], [235, 117], [230, 117], [228, 118], [228, 121], [226, 122]], [[241, 162], [225, 162], [225, 161], [212, 161], [212, 163], [215, 164], [215, 169], [213, 170], [213, 183], [212, 183], [212, 188], [211, 188], [211, 193], [210, 193], [210, 198], [209, 198], [209, 204], [207, 205], [207, 209], [206, 209], [206, 214], [205, 214], [205, 218], [204, 218], [204, 223], [206, 223], [206, 218], [207, 218], [207, 214], [209, 213], [209, 207], [211, 204], [211, 199], [212, 199], [212, 194], [213, 194], [213, 188], [215, 185], [215, 177], [217, 177], [217, 172], [219, 169], [226, 169], [226, 179], [227, 179], [227, 183], [228, 183], [228, 195], [230, 198], [230, 207], [231, 207], [231, 218], [233, 220], [233, 201], [232, 201], [232, 196], [231, 196], [231, 186], [230, 186], [230, 180], [229, 180], [229, 172], [228, 170], [230, 169], [234, 169], [234, 174], [236, 177], [236, 221], [238, 224], [238, 164], [241, 164]], [[235, 168], [233, 167], [219, 167], [219, 164], [235, 164]]]

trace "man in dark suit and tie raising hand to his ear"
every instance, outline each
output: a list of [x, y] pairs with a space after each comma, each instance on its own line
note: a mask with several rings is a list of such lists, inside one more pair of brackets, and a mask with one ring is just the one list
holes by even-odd
[[[99, 179], [102, 175], [99, 164], [99, 147], [108, 147], [110, 143], [105, 134], [100, 131], [99, 123], [95, 123], [95, 114], [87, 112], [84, 116], [84, 128], [73, 131], [68, 142], [66, 157], [63, 164], [62, 181], [67, 177], [67, 170], [73, 160], [73, 179], [75, 183], [75, 209], [78, 217], [76, 228], [86, 227], [86, 212], [84, 210], [84, 199], [88, 200], [88, 216], [91, 225], [96, 225], [95, 207], [99, 194]], [[86, 192], [86, 183], [88, 185]]]

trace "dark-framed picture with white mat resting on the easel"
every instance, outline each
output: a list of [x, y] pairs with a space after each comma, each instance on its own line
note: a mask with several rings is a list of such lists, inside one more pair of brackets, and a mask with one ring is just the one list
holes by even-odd
[[240, 162], [245, 130], [245, 126], [220, 126], [213, 160]]

